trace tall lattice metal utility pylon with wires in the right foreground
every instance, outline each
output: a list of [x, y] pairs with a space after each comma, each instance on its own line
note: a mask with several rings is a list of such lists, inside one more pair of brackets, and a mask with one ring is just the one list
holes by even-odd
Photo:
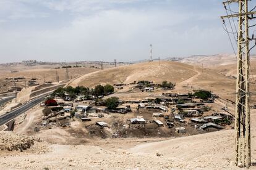
[[[230, 8], [230, 4], [238, 2], [239, 12], [232, 14], [232, 10], [229, 9], [231, 15], [221, 17], [223, 24], [225, 24], [224, 18], [238, 18], [238, 31], [237, 31], [237, 79], [236, 79], [236, 166], [250, 167], [251, 164], [251, 147], [250, 147], [250, 90], [249, 90], [249, 69], [250, 69], [250, 50], [249, 42], [255, 40], [249, 38], [249, 26], [248, 20], [252, 20], [255, 17], [253, 15], [256, 12], [250, 10], [248, 12], [248, 0], [229, 0], [223, 2], [225, 9], [227, 6]], [[227, 9], [226, 9], [227, 10]], [[226, 24], [225, 24], [226, 26]], [[231, 26], [232, 28], [232, 26]], [[229, 36], [229, 40], [230, 36]], [[232, 42], [231, 42], [232, 44]], [[234, 48], [233, 48], [234, 49]]]

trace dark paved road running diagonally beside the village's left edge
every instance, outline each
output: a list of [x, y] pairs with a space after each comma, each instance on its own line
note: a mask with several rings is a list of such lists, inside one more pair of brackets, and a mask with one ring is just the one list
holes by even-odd
[[46, 95], [42, 95], [41, 97], [38, 97], [36, 99], [31, 100], [28, 103], [23, 104], [21, 107], [16, 108], [15, 110], [10, 111], [9, 113], [6, 113], [4, 115], [0, 116], [0, 126], [7, 123], [11, 119], [14, 119], [15, 117], [21, 115], [25, 111], [29, 110], [30, 108], [34, 107], [38, 103], [42, 102]]

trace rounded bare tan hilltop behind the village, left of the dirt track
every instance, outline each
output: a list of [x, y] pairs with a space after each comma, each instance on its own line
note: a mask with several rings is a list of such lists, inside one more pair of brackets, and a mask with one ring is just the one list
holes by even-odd
[[139, 80], [150, 80], [155, 83], [162, 83], [167, 80], [178, 83], [196, 74], [194, 67], [178, 62], [162, 61], [138, 63], [107, 70], [96, 71], [75, 79], [71, 86], [93, 87], [101, 83], [132, 83]]

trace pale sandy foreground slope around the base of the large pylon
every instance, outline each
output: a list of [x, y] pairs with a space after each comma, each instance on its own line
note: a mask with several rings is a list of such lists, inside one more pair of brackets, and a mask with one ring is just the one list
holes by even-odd
[[[255, 110], [252, 110], [252, 163], [256, 161]], [[163, 139], [161, 139], [163, 140]], [[144, 144], [143, 144], [144, 143]], [[127, 147], [129, 146], [129, 147]], [[234, 130], [151, 142], [102, 139], [88, 145], [38, 144], [23, 152], [1, 151], [4, 169], [239, 169], [234, 166]], [[255, 169], [254, 166], [250, 169]]]

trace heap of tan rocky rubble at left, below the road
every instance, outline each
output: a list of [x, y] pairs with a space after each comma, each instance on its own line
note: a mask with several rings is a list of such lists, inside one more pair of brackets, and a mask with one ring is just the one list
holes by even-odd
[[0, 150], [26, 150], [34, 145], [35, 141], [40, 142], [40, 139], [34, 139], [22, 134], [14, 134], [11, 131], [0, 132]]

